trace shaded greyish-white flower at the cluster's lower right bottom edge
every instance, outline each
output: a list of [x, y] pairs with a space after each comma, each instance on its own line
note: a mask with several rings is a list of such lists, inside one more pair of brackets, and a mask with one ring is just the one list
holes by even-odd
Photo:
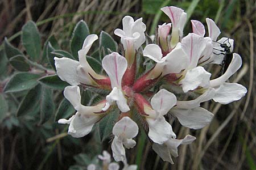
[[164, 142], [162, 145], [159, 145], [157, 143], [154, 143], [152, 145], [153, 150], [166, 162], [170, 162], [171, 164], [174, 164], [172, 161], [172, 156], [175, 158], [178, 155], [177, 147], [180, 145], [189, 145], [193, 141], [195, 141], [196, 137], [193, 137], [191, 135], [186, 135], [184, 139], [172, 139], [170, 138], [167, 142]]

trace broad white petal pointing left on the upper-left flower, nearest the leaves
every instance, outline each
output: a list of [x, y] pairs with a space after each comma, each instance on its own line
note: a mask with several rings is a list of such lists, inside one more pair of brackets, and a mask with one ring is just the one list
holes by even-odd
[[57, 75], [61, 80], [68, 82], [71, 85], [78, 85], [79, 77], [77, 75], [77, 67], [79, 66], [79, 62], [70, 58], [57, 58], [54, 57], [55, 67]]

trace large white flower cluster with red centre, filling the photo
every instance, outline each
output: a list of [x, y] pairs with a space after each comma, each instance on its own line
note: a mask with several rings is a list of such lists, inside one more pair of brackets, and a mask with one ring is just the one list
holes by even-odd
[[[247, 92], [241, 84], [226, 82], [242, 65], [239, 54], [233, 53], [225, 73], [216, 79], [211, 79], [212, 74], [204, 68], [213, 63], [221, 65], [226, 55], [233, 51], [232, 39], [224, 37], [217, 41], [220, 29], [212, 19], [206, 19], [208, 37], [204, 37], [204, 25], [197, 20], [191, 20], [193, 32], [183, 37], [187, 14], [172, 6], [163, 7], [162, 11], [168, 15], [171, 23], [159, 25], [156, 44], [148, 44], [144, 48], [143, 56], [154, 60], [156, 64], [138, 79], [136, 58], [142, 57], [138, 49], [146, 40], [146, 25], [142, 18], [134, 21], [131, 16], [125, 16], [122, 20], [123, 29], [115, 29], [114, 33], [121, 37], [125, 51], [124, 56], [113, 52], [102, 59], [102, 67], [108, 76], [97, 74], [86, 61], [86, 54], [98, 39], [97, 35], [86, 37], [78, 52], [79, 61], [55, 57], [57, 75], [72, 85], [65, 88], [64, 96], [77, 111], [69, 120], [61, 119], [59, 123], [69, 124], [68, 134], [73, 137], [84, 137], [101, 118], [114, 114], [109, 111], [117, 105], [120, 114], [113, 128], [112, 142], [116, 161], [126, 162], [125, 148], [136, 145], [133, 138], [137, 136], [139, 128], [131, 118], [137, 112], [133, 113], [131, 107], [137, 109], [142, 123], [147, 125], [148, 137], [154, 142], [154, 151], [164, 161], [174, 163], [171, 155], [178, 156], [177, 147], [188, 145], [196, 138], [187, 135], [183, 139], [176, 139], [166, 116], [176, 117], [187, 128], [200, 129], [213, 118], [213, 114], [200, 107], [200, 103], [213, 99], [228, 104], [240, 100]], [[170, 34], [171, 39], [168, 38]], [[164, 88], [152, 94], [152, 87], [159, 82], [164, 82], [164, 86], [160, 87], [180, 88], [179, 95], [189, 92], [199, 97], [179, 101], [176, 94]], [[111, 92], [100, 103], [84, 106], [81, 104], [79, 84]], [[150, 103], [148, 99], [151, 99]]]

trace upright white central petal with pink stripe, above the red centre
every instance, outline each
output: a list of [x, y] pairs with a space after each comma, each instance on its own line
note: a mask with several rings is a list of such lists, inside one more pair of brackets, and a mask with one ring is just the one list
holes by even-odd
[[102, 59], [102, 67], [109, 75], [111, 86], [122, 87], [122, 77], [127, 68], [127, 61], [125, 57], [120, 56], [118, 53], [111, 53]]

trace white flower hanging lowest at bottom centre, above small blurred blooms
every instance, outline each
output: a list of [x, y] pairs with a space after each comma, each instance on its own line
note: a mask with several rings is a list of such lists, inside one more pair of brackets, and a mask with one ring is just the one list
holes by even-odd
[[136, 145], [132, 138], [137, 136], [138, 130], [138, 125], [129, 117], [123, 117], [114, 125], [112, 133], [115, 137], [111, 148], [115, 161], [126, 161], [125, 147], [133, 148]]

